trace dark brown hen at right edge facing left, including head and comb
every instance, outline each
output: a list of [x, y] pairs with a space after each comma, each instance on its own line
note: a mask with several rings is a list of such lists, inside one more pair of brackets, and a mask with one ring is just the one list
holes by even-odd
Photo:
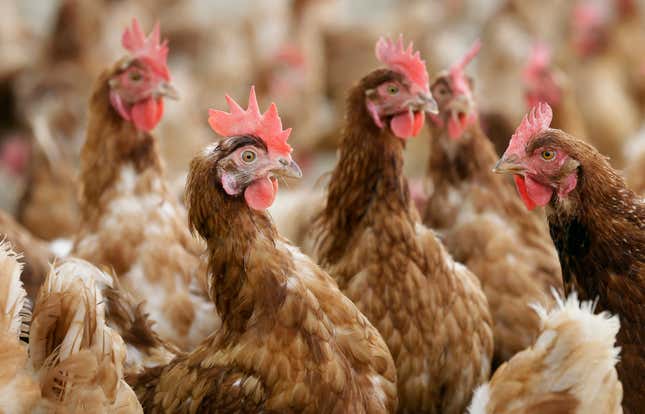
[[645, 407], [645, 202], [585, 142], [549, 128], [551, 108], [525, 117], [497, 163], [513, 174], [527, 208], [546, 206], [567, 293], [620, 317], [623, 409]]

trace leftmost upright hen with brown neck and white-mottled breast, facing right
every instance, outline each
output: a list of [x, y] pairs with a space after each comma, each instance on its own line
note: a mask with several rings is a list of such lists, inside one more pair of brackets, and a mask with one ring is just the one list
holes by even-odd
[[100, 75], [81, 154], [81, 231], [73, 255], [112, 267], [159, 335], [191, 349], [219, 326], [200, 289], [203, 248], [167, 189], [157, 141], [163, 96], [174, 96], [159, 27], [144, 36], [136, 20], [123, 34], [130, 55]]

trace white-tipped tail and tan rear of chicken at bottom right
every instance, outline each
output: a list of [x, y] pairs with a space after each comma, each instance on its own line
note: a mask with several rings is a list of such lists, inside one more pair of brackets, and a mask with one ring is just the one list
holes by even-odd
[[623, 412], [618, 317], [594, 315], [593, 303], [579, 302], [575, 293], [556, 298], [550, 311], [535, 307], [539, 338], [477, 389], [470, 414]]

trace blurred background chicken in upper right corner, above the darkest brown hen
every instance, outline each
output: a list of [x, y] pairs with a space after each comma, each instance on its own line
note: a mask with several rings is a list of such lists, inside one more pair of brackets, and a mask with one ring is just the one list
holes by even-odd
[[639, 113], [629, 91], [620, 52], [610, 41], [607, 14], [588, 0], [574, 8], [571, 43], [579, 60], [571, 64], [571, 77], [576, 80], [586, 138], [611, 158], [614, 167], [621, 168], [623, 145], [638, 129]]

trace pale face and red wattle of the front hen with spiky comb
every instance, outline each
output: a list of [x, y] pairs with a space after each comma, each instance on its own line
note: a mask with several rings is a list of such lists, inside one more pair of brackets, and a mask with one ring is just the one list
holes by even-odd
[[265, 210], [273, 204], [278, 177], [300, 178], [302, 172], [290, 155], [267, 150], [252, 136], [232, 137], [222, 143], [228, 154], [217, 163], [217, 173], [226, 194], [244, 194], [249, 207]]

